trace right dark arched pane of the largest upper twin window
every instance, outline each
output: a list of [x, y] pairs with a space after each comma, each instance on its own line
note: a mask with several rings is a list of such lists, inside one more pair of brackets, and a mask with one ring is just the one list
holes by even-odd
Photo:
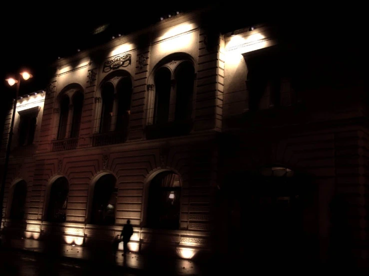
[[175, 71], [176, 80], [176, 111], [175, 120], [189, 120], [192, 115], [192, 95], [194, 88], [195, 69], [188, 61], [178, 65]]

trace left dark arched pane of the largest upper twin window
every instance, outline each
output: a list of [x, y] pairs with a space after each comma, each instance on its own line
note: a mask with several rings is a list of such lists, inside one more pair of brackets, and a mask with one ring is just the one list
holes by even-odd
[[171, 90], [171, 74], [168, 68], [162, 67], [155, 74], [155, 107], [154, 124], [168, 122]]

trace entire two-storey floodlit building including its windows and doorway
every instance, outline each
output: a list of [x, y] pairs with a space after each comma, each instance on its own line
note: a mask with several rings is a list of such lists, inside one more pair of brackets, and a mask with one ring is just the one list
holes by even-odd
[[318, 83], [280, 29], [222, 33], [209, 12], [59, 59], [17, 100], [4, 231], [84, 245], [129, 219], [135, 252], [367, 262], [362, 86]]

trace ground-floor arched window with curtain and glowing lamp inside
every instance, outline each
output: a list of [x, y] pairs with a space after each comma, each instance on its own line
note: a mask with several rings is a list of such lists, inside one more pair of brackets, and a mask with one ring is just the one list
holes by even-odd
[[164, 171], [149, 184], [147, 226], [157, 229], [178, 229], [181, 183], [177, 174]]

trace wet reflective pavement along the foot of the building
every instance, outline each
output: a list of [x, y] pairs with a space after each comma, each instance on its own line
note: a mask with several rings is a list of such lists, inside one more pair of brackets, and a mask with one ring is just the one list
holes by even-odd
[[114, 255], [77, 245], [62, 245], [60, 253], [49, 254], [37, 240], [10, 240], [0, 249], [0, 275], [204, 275], [196, 263], [188, 260], [134, 253], [123, 256], [122, 251]]

